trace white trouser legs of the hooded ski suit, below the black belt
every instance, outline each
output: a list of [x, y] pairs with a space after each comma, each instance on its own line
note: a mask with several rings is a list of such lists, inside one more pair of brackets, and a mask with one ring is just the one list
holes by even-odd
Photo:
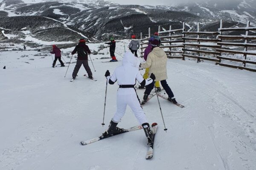
[[117, 108], [112, 118], [113, 122], [120, 122], [125, 115], [127, 105], [130, 106], [140, 125], [148, 122], [134, 88], [119, 88], [116, 95], [116, 104]]

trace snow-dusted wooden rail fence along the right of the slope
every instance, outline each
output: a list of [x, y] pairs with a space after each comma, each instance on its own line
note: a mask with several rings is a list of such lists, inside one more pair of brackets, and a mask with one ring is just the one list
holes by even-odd
[[[227, 35], [229, 33], [228, 31], [245, 31], [245, 35]], [[216, 65], [256, 72], [256, 61], [247, 59], [248, 55], [256, 56], [256, 43], [252, 42], [252, 40], [256, 40], [256, 36], [250, 36], [250, 31], [256, 31], [256, 27], [250, 27], [250, 22], [247, 22], [247, 26], [244, 28], [223, 28], [222, 20], [220, 22], [220, 28], [215, 32], [201, 31], [200, 23], [197, 25], [196, 32], [186, 31], [185, 23], [183, 23], [183, 28], [175, 30], [172, 30], [172, 26], [167, 31], [160, 31], [160, 26], [158, 28], [159, 37], [162, 40], [160, 48], [164, 49], [168, 58], [185, 60], [186, 57], [189, 57], [197, 59], [197, 62], [210, 60], [214, 61]], [[140, 49], [142, 55], [144, 49], [147, 47], [148, 38], [151, 35], [150, 32], [151, 30], [149, 28], [146, 38], [143, 38], [141, 33]], [[243, 50], [233, 50], [230, 47], [242, 47]], [[248, 48], [254, 48], [255, 51], [248, 51]], [[228, 57], [227, 54], [242, 54], [243, 59]], [[226, 60], [241, 62], [242, 65], [224, 63]], [[251, 66], [254, 68], [246, 67], [247, 63], [253, 64]]]

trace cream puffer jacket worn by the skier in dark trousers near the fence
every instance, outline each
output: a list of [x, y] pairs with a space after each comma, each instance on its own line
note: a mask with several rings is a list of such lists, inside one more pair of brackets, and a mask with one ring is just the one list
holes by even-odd
[[160, 47], [155, 47], [148, 54], [147, 61], [141, 64], [142, 68], [149, 68], [149, 76], [153, 73], [156, 77], [155, 81], [167, 79], [166, 70], [167, 56]]

